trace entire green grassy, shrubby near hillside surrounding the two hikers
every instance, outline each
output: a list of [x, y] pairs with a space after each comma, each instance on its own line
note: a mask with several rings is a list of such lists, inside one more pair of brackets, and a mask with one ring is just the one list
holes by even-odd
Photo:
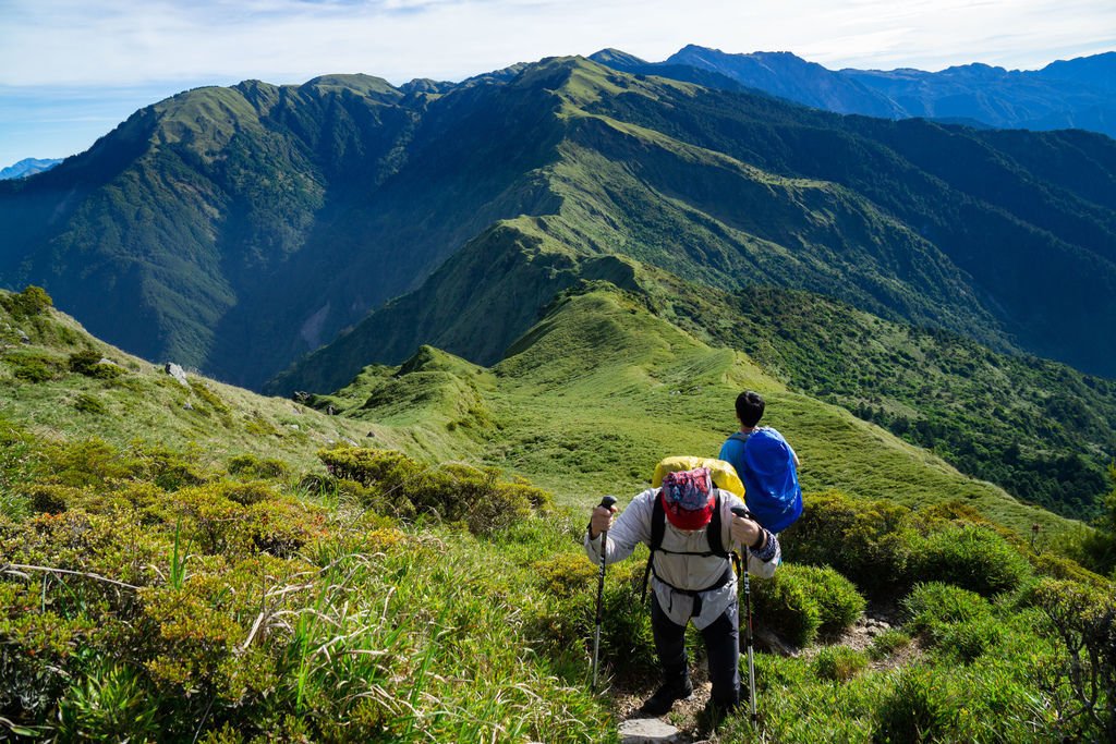
[[[183, 742], [613, 741], [618, 711], [587, 684], [596, 584], [579, 545], [586, 512], [604, 493], [623, 503], [645, 487], [663, 456], [714, 454], [749, 387], [799, 452], [809, 526], [827, 535], [799, 548], [830, 567], [788, 570], [788, 596], [810, 599], [790, 602], [783, 622], [758, 602], [757, 621], [786, 636], [812, 613], [800, 642], [825, 622], [830, 639], [864, 607], [850, 581], [869, 602], [910, 611], [872, 656], [913, 661], [879, 670], [839, 647], [812, 660], [760, 654], [761, 733], [734, 715], [714, 741], [910, 741], [912, 722], [916, 737], [942, 741], [1103, 731], [1056, 715], [1077, 703], [1049, 618], [1094, 632], [1101, 616], [1085, 602], [1103, 603], [1108, 584], [1020, 537], [1035, 522], [1050, 539], [1079, 526], [788, 390], [647, 302], [589, 282], [557, 298], [500, 364], [425, 347], [309, 402], [335, 415], [299, 406], [297, 416], [296, 404], [203, 378], [183, 387], [42, 311], [23, 323], [32, 342], [7, 349], [17, 359], [96, 349], [124, 371], [103, 379], [60, 365], [18, 380], [0, 357], [11, 383], [0, 397], [0, 555], [25, 567], [0, 577], [0, 640], [20, 649], [0, 663], [10, 689], [37, 700], [0, 690], [0, 716], [94, 738], [142, 738], [158, 722], [162, 737]], [[77, 395], [103, 408], [65, 405]], [[189, 426], [192, 416], [204, 426]], [[302, 436], [286, 432], [292, 422]], [[347, 435], [416, 460], [340, 450], [319, 461], [327, 439]], [[343, 461], [371, 475], [341, 477]], [[492, 532], [477, 515], [498, 492], [545, 494], [452, 461], [526, 475], [558, 509], [509, 501], [508, 524]], [[799, 535], [788, 532], [788, 555], [802, 552]], [[894, 562], [907, 573], [889, 583], [834, 573], [856, 564], [845, 559], [857, 535], [865, 571]], [[902, 601], [920, 572], [941, 583]], [[1077, 584], [1048, 582], [1036, 593], [1047, 573], [1097, 589], [1075, 599], [1060, 587]], [[609, 570], [602, 639], [604, 677], [635, 695], [655, 677], [641, 576], [638, 557]]]

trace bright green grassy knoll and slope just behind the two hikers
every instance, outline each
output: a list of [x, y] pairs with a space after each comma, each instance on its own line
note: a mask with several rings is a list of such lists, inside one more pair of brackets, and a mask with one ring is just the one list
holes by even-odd
[[585, 286], [556, 300], [490, 369], [427, 348], [397, 370], [366, 370], [317, 405], [395, 429], [431, 455], [510, 466], [566, 503], [590, 504], [646, 487], [667, 455], [714, 456], [735, 427], [735, 395], [754, 388], [768, 399], [766, 423], [801, 456], [807, 491], [912, 508], [961, 500], [1021, 533], [1033, 523], [1071, 524], [837, 406], [788, 392], [745, 355], [708, 346], [644, 302]]

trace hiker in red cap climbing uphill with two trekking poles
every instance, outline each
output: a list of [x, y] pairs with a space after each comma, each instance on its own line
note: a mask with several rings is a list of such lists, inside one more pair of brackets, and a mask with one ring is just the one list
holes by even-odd
[[[731, 472], [725, 463], [711, 463]], [[615, 505], [593, 510], [585, 550], [595, 564], [620, 561], [641, 542], [652, 549], [651, 622], [663, 684], [643, 704], [642, 715], [665, 715], [692, 694], [689, 622], [705, 644], [712, 715], [719, 719], [740, 704], [739, 603], [730, 557], [743, 547], [748, 570], [763, 578], [781, 560], [775, 533], [733, 513], [744, 513], [743, 506], [738, 495], [714, 486], [709, 467], [696, 467], [666, 473], [662, 486], [636, 495], [618, 518]]]

